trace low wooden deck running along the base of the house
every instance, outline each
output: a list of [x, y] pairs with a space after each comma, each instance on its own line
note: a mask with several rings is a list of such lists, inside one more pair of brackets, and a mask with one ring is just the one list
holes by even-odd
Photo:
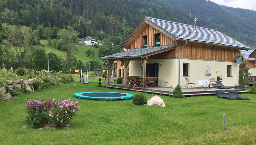
[[[145, 92], [145, 93], [151, 93], [151, 94], [159, 94], [159, 95], [167, 95], [167, 96], [172, 96], [173, 95], [173, 90], [175, 88], [169, 88], [169, 87], [149, 87], [146, 89], [143, 89], [142, 87], [125, 87], [124, 84], [111, 84], [109, 86], [104, 86], [106, 88], [110, 89], [121, 89], [121, 90], [130, 90], [130, 91], [138, 91], [138, 92]], [[201, 95], [216, 95], [216, 92], [214, 88], [210, 89], [198, 89], [198, 88], [181, 88], [183, 91], [183, 94], [185, 97], [190, 97], [190, 96], [201, 96]], [[218, 89], [219, 90], [219, 89]], [[220, 89], [224, 90], [226, 93], [228, 90], [234, 90], [234, 89]], [[244, 89], [237, 89], [237, 93], [244, 93], [244, 92], [249, 92]]]

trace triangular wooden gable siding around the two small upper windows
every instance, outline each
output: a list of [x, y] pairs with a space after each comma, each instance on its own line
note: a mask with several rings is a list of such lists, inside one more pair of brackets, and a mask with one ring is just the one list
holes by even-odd
[[[140, 48], [142, 47], [142, 37], [148, 36], [148, 44], [147, 46], [154, 46], [154, 34], [160, 33], [157, 29], [148, 25], [143, 32], [132, 42], [129, 49]], [[160, 45], [172, 44], [175, 43], [173, 40], [168, 38], [163, 33], [160, 33]]]

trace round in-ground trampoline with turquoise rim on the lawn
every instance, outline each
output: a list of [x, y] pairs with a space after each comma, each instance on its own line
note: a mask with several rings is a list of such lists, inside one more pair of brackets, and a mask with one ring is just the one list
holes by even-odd
[[82, 92], [75, 93], [74, 97], [92, 100], [123, 100], [131, 99], [133, 95], [128, 93], [117, 92]]

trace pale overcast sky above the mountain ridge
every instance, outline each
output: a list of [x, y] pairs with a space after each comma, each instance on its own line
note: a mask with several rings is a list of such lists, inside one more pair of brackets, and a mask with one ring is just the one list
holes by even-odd
[[255, 0], [211, 0], [211, 1], [217, 4], [225, 5], [229, 7], [256, 10]]

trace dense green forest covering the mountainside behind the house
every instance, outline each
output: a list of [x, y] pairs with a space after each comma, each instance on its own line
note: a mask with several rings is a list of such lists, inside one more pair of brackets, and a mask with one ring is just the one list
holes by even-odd
[[86, 36], [103, 40], [105, 45], [96, 48], [97, 57], [102, 57], [118, 52], [144, 16], [190, 24], [190, 14], [191, 25], [197, 17], [198, 26], [256, 46], [256, 11], [209, 0], [0, 0], [0, 67], [46, 68], [47, 62], [37, 61], [47, 57], [38, 47], [42, 39], [67, 55], [66, 59], [51, 55], [59, 66], [50, 70], [87, 67], [73, 55], [78, 40]]

